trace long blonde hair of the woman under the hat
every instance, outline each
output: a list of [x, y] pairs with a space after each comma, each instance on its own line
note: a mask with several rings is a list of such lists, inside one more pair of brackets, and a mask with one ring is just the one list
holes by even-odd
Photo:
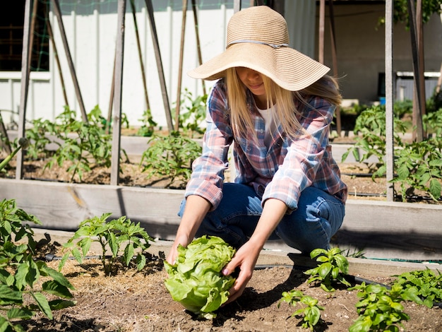
[[[300, 91], [285, 90], [267, 76], [261, 76], [265, 88], [267, 108], [270, 109], [272, 105], [277, 105], [277, 107], [273, 108], [275, 109], [274, 118], [280, 121], [282, 130], [291, 138], [305, 134], [298, 121], [298, 117], [302, 117], [303, 114], [295, 106], [295, 99], [299, 100], [302, 105], [308, 105], [306, 102], [308, 97], [316, 95], [335, 106], [340, 105], [342, 99], [338, 90], [338, 83], [331, 76], [323, 76], [312, 85]], [[232, 129], [236, 136], [246, 137], [246, 133], [254, 132], [250, 110], [246, 104], [246, 88], [239, 80], [234, 68], [227, 69], [225, 81]]]

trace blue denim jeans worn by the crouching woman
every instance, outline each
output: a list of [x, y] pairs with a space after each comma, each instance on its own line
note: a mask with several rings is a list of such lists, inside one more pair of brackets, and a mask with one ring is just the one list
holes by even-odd
[[[196, 237], [215, 235], [239, 248], [253, 234], [263, 208], [261, 198], [251, 186], [225, 183], [220, 205], [210, 211], [196, 232]], [[186, 201], [178, 215], [184, 213]], [[301, 192], [297, 210], [285, 215], [269, 239], [282, 239], [303, 254], [313, 249], [328, 249], [331, 237], [342, 225], [345, 205], [321, 189], [308, 187]]]

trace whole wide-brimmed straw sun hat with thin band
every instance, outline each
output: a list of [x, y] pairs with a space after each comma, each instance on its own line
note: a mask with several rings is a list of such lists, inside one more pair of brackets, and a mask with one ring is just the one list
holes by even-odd
[[234, 13], [227, 25], [225, 52], [189, 71], [192, 78], [213, 81], [232, 67], [246, 67], [287, 90], [301, 90], [330, 69], [289, 46], [285, 19], [268, 6]]

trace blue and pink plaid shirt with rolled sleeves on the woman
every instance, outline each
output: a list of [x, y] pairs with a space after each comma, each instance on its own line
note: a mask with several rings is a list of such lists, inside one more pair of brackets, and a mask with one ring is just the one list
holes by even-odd
[[[235, 137], [229, 119], [224, 80], [218, 81], [208, 98], [207, 129], [201, 157], [193, 162], [193, 172], [186, 187], [186, 197], [198, 195], [217, 208], [222, 198], [227, 153], [234, 143], [233, 154], [237, 177], [234, 182], [253, 186], [264, 202], [277, 198], [289, 210], [297, 208], [301, 191], [314, 186], [345, 203], [347, 186], [331, 154], [328, 132], [335, 107], [320, 97], [312, 96], [309, 107], [295, 102], [302, 113], [299, 123], [309, 135], [296, 139], [282, 137], [275, 131], [273, 143], [264, 144], [265, 123], [256, 109], [253, 96], [247, 92], [247, 105], [255, 124], [258, 144], [249, 137]], [[279, 132], [282, 127], [279, 126]]]

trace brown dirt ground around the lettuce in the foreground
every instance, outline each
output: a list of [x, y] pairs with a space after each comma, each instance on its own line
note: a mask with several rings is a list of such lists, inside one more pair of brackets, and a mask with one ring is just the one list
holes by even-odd
[[[47, 252], [60, 254], [59, 244], [51, 242]], [[152, 250], [151, 250], [152, 249]], [[318, 300], [324, 307], [314, 331], [348, 331], [357, 319], [357, 291], [338, 287], [333, 294], [318, 285], [306, 283], [307, 275], [293, 265], [262, 266], [254, 271], [244, 294], [232, 304], [218, 309], [213, 320], [201, 320], [186, 312], [167, 292], [167, 278], [160, 257], [167, 252], [150, 247], [153, 259], [142, 271], [120, 267], [105, 276], [101, 262], [88, 259], [78, 264], [68, 261], [61, 270], [76, 288], [75, 307], [54, 312], [54, 320], [38, 314], [22, 322], [25, 331], [307, 331], [301, 318], [292, 316], [300, 307], [278, 306], [282, 292], [294, 288]], [[42, 251], [44, 254], [44, 251]], [[90, 253], [100, 254], [100, 253]], [[59, 261], [47, 264], [57, 268]], [[394, 277], [357, 275], [374, 283], [389, 285]], [[410, 320], [400, 331], [442, 331], [442, 309], [429, 309], [412, 302], [403, 303]]]

